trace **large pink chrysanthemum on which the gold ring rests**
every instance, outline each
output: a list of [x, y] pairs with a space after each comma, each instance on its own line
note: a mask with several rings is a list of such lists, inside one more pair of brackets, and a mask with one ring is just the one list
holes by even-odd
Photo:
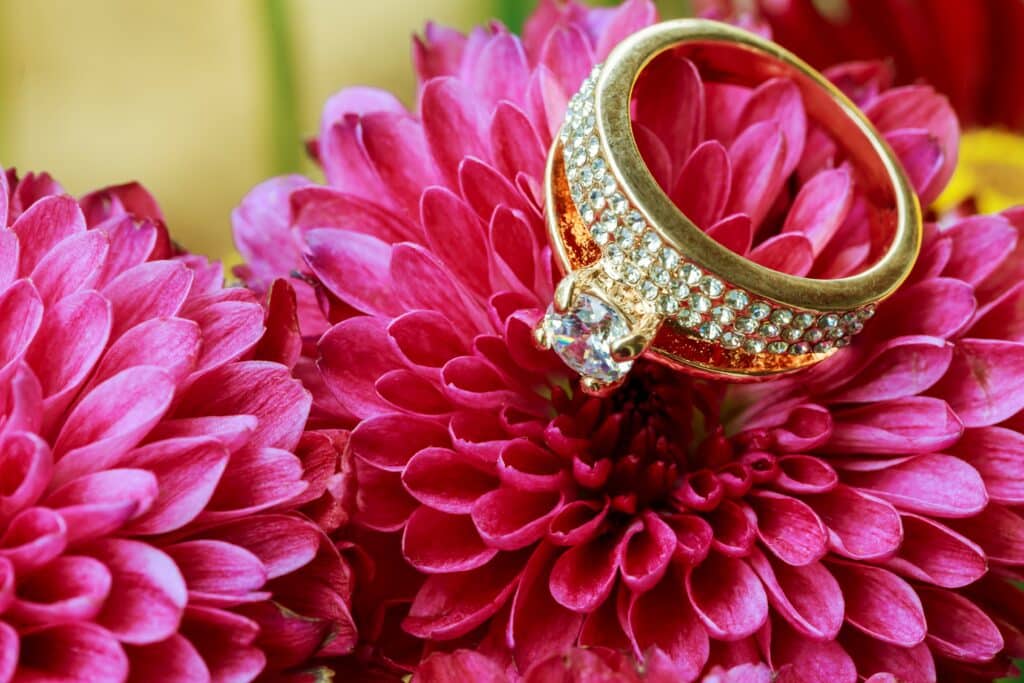
[[[416, 113], [342, 92], [314, 145], [328, 184], [273, 180], [236, 215], [257, 286], [294, 268], [311, 283], [312, 419], [353, 428], [377, 569], [356, 596], [367, 650], [414, 669], [469, 646], [511, 678], [578, 645], [666, 680], [1006, 672], [1024, 647], [1007, 583], [1024, 563], [1024, 216], [929, 226], [869, 331], [797, 379], [638, 364], [588, 398], [532, 347], [556, 278], [545, 151], [591, 66], [654, 19], [642, 0], [549, 1], [521, 42], [430, 27]], [[933, 200], [955, 161], [946, 101], [885, 89], [873, 66], [830, 76]], [[720, 242], [797, 274], [865, 265], [850, 173], [792, 84], [701, 83], [668, 54], [636, 114], [663, 186]]]

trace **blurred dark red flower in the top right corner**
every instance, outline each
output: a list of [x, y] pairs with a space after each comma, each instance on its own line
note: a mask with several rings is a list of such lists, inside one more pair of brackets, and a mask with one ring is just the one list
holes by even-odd
[[[713, 11], [729, 0], [703, 0]], [[1018, 0], [757, 0], [772, 36], [812, 65], [889, 61], [897, 83], [924, 80], [966, 127], [1024, 129], [1024, 4]]]

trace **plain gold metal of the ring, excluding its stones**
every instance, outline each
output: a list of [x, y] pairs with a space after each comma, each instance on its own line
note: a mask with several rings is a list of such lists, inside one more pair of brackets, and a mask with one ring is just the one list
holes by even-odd
[[[809, 118], [822, 125], [852, 162], [858, 188], [871, 205], [873, 264], [856, 274], [837, 280], [799, 278], [765, 268], [708, 237], [662, 190], [644, 163], [633, 135], [630, 100], [639, 74], [659, 53], [676, 48], [691, 59], [706, 80], [755, 86], [767, 79], [785, 77], [800, 89]], [[707, 272], [753, 295], [809, 311], [855, 310], [891, 295], [909, 275], [921, 248], [921, 209], [899, 161], [866, 117], [836, 86], [782, 47], [735, 27], [707, 19], [679, 19], [644, 29], [620, 43], [608, 55], [595, 86], [596, 127], [601, 156], [621, 180], [621, 190], [648, 224], [686, 258]], [[548, 160], [545, 182], [548, 228], [552, 245], [565, 272], [573, 265], [572, 248], [599, 257], [589, 236], [554, 209], [565, 205], [561, 145], [556, 139]], [[571, 204], [571, 202], [569, 203]], [[572, 219], [569, 219], [572, 220]], [[585, 230], [584, 230], [585, 232]], [[589, 243], [589, 244], [584, 244]], [[574, 259], [579, 261], [580, 259]], [[590, 260], [590, 257], [587, 258]], [[663, 332], [665, 332], [663, 330]], [[647, 349], [662, 361], [685, 366], [709, 376], [771, 375], [814, 365], [828, 354], [808, 354], [806, 361], [784, 367], [751, 367], [732, 364], [722, 372], [717, 362], [679, 354], [678, 348], [658, 348], [660, 338]], [[675, 344], [679, 346], [679, 344]], [[760, 364], [754, 364], [758, 366]]]

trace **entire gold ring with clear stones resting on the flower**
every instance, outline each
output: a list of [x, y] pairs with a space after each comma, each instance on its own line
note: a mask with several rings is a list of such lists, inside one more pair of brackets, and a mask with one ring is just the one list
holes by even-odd
[[[800, 278], [729, 251], [658, 186], [633, 136], [630, 99], [645, 66], [676, 48], [705, 80], [746, 86], [790, 78], [831, 135], [869, 204], [873, 265], [836, 280]], [[627, 38], [569, 102], [545, 177], [547, 224], [566, 275], [536, 328], [600, 393], [643, 354], [689, 374], [755, 381], [829, 357], [910, 273], [921, 209], [900, 163], [864, 115], [780, 46], [707, 19], [666, 22]], [[696, 188], [696, 191], [700, 191]]]

